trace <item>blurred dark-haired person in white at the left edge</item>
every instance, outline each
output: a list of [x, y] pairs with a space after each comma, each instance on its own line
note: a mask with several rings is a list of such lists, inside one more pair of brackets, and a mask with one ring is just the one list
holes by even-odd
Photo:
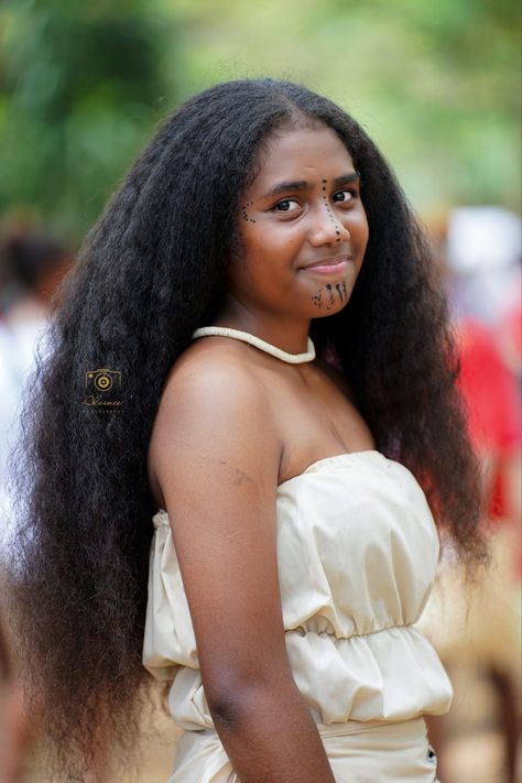
[[[63, 244], [24, 225], [0, 236], [0, 541], [9, 546], [9, 453], [19, 431], [18, 411], [45, 338], [51, 296], [72, 263]], [[0, 606], [1, 609], [1, 606]], [[12, 641], [0, 611], [0, 781], [23, 777], [31, 744], [30, 718], [17, 678]]]

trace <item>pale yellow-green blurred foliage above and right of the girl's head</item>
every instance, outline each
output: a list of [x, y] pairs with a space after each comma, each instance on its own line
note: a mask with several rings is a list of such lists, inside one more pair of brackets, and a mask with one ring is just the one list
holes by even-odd
[[244, 75], [301, 81], [355, 115], [417, 208], [520, 209], [520, 0], [175, 6], [191, 91]]

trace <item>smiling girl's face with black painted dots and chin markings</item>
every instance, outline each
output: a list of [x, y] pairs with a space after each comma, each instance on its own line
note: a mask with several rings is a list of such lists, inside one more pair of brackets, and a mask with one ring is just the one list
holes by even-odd
[[316, 318], [350, 298], [368, 242], [359, 176], [326, 126], [272, 135], [243, 193], [229, 292], [253, 315]]

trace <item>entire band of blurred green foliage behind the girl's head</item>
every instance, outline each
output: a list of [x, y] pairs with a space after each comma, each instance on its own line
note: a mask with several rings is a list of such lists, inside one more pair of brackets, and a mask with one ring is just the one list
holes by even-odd
[[520, 209], [513, 0], [4, 0], [0, 214], [78, 239], [161, 117], [273, 75], [367, 128], [420, 211]]

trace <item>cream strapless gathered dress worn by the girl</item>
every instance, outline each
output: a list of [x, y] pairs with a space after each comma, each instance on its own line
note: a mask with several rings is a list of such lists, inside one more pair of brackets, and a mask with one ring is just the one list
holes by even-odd
[[[422, 489], [379, 452], [341, 454], [280, 485], [276, 512], [286, 650], [336, 781], [436, 780], [422, 715], [446, 713], [453, 690], [415, 624], [439, 553]], [[170, 783], [235, 783], [166, 512], [153, 523], [143, 663], [172, 681], [170, 710], [183, 729]]]

